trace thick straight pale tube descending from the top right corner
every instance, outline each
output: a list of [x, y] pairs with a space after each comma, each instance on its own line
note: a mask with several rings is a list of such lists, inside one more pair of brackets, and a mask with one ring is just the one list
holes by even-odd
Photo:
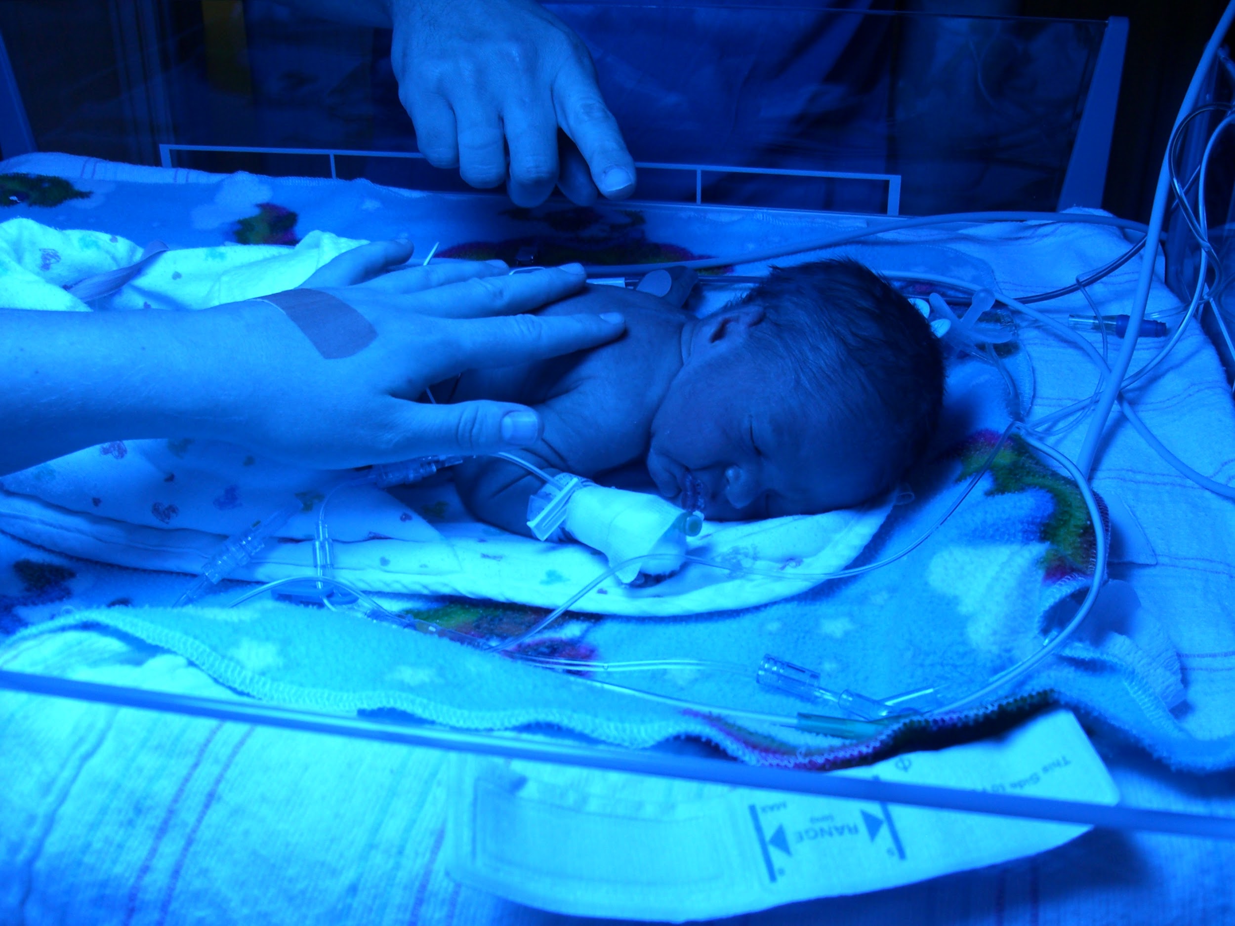
[[[1197, 96], [1200, 94], [1200, 85], [1205, 79], [1205, 75], [1214, 62], [1214, 57], [1218, 54], [1218, 47], [1226, 37], [1226, 32], [1230, 30], [1233, 21], [1235, 21], [1235, 0], [1230, 0], [1230, 2], [1226, 4], [1226, 9], [1223, 11], [1223, 16], [1218, 21], [1214, 33], [1205, 43], [1205, 48], [1200, 54], [1200, 60], [1197, 63], [1197, 68], [1192, 74], [1192, 80], [1188, 83], [1188, 90], [1183, 95], [1183, 102], [1179, 105], [1179, 112], [1174, 120], [1172, 136], [1178, 133], [1179, 123], [1195, 105]], [[1162, 167], [1158, 170], [1157, 188], [1153, 191], [1153, 207], [1150, 211], [1149, 231], [1146, 232], [1146, 240], [1155, 242], [1155, 244], [1158, 241], [1158, 236], [1162, 233], [1162, 225], [1166, 221], [1166, 209], [1170, 191], [1171, 146], [1167, 144], [1167, 152], [1162, 158]], [[1089, 420], [1089, 428], [1086, 432], [1083, 443], [1081, 444], [1077, 467], [1087, 478], [1089, 472], [1093, 469], [1094, 459], [1098, 456], [1098, 444], [1102, 442], [1102, 436], [1105, 432], [1107, 420], [1110, 417], [1110, 410], [1115, 407], [1115, 403], [1119, 399], [1119, 391], [1123, 389], [1124, 377], [1128, 374], [1128, 368], [1132, 362], [1132, 352], [1136, 349], [1141, 321], [1145, 319], [1145, 307], [1149, 305], [1150, 300], [1150, 286], [1153, 283], [1153, 269], [1157, 262], [1157, 253], [1158, 249], [1156, 246], [1146, 247], [1142, 253], [1141, 270], [1136, 280], [1136, 295], [1132, 298], [1132, 304], [1130, 306], [1130, 311], [1128, 312], [1129, 336], [1124, 338], [1124, 343], [1119, 348], [1119, 354], [1115, 358], [1112, 373], [1107, 377], [1107, 382], [1103, 384], [1102, 395], [1098, 399], [1098, 405]]]

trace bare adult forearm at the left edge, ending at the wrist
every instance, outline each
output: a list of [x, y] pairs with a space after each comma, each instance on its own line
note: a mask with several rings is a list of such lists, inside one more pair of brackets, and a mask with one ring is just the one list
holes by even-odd
[[107, 441], [226, 427], [237, 396], [212, 321], [0, 310], [0, 474]]

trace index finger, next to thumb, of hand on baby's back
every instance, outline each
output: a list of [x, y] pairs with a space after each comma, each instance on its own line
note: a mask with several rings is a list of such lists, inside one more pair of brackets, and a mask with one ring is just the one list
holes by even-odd
[[[432, 379], [466, 369], [509, 367], [584, 351], [613, 341], [626, 330], [619, 312], [604, 315], [511, 315], [451, 322], [448, 341], [430, 359]], [[429, 358], [426, 358], [429, 359]]]

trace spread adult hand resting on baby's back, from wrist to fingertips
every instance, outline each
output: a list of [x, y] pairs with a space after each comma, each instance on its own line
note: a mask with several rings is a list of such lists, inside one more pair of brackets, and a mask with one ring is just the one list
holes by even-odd
[[526, 446], [541, 427], [526, 406], [416, 400], [431, 384], [464, 369], [571, 353], [624, 330], [620, 316], [525, 314], [578, 291], [582, 269], [505, 275], [500, 262], [442, 262], [388, 270], [410, 254], [409, 243], [375, 242], [342, 254], [305, 282], [304, 288], [345, 302], [363, 316], [352, 321], [375, 332], [346, 357], [324, 357], [270, 302], [211, 310], [243, 332], [243, 347], [230, 361], [241, 369], [222, 377], [242, 388], [231, 403], [237, 417], [225, 419], [216, 436], [327, 468]]

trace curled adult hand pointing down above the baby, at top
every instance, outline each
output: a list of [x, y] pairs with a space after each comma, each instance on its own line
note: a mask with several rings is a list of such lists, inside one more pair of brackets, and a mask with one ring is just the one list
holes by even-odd
[[534, 0], [389, 2], [399, 96], [429, 163], [473, 186], [505, 180], [520, 206], [555, 184], [579, 205], [634, 193], [635, 162], [566, 23]]

